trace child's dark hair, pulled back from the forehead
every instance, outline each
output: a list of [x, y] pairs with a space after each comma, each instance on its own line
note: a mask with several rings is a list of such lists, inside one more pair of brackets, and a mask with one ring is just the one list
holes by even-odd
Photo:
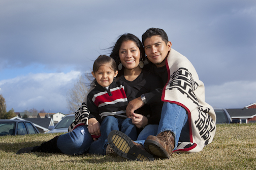
[[93, 63], [92, 71], [95, 73], [99, 70], [99, 68], [104, 65], [109, 63], [110, 68], [116, 71], [116, 62], [114, 59], [112, 59], [109, 56], [101, 55], [99, 56]]

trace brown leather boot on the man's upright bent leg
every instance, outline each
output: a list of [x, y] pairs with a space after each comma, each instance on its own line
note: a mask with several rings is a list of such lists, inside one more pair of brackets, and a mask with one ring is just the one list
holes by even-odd
[[160, 158], [170, 158], [174, 149], [174, 137], [171, 131], [159, 133], [157, 136], [148, 136], [144, 147], [145, 149]]

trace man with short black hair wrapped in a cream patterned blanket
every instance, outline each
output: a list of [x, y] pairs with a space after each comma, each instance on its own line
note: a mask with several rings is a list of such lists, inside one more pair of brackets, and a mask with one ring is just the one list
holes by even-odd
[[[159, 75], [165, 84], [157, 136], [148, 136], [143, 141], [146, 151], [160, 158], [170, 158], [173, 151], [201, 151], [212, 142], [216, 131], [216, 115], [205, 102], [203, 82], [187, 58], [171, 49], [172, 44], [164, 30], [149, 28], [142, 35], [142, 43], [151, 62], [150, 70]], [[157, 96], [157, 92], [155, 94]], [[134, 99], [127, 106], [126, 115], [133, 115], [136, 109], [149, 102], [152, 101], [147, 101], [147, 94]], [[115, 138], [122, 139], [123, 144]], [[135, 143], [119, 132], [110, 133], [108, 139], [119, 155], [131, 160], [150, 160], [138, 144], [140, 142]]]

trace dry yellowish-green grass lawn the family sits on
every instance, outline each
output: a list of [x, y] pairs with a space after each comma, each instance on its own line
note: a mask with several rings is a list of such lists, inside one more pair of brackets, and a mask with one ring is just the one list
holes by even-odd
[[128, 161], [120, 156], [16, 152], [59, 134], [0, 137], [0, 169], [256, 169], [256, 124], [217, 124], [213, 142], [199, 153], [170, 159]]

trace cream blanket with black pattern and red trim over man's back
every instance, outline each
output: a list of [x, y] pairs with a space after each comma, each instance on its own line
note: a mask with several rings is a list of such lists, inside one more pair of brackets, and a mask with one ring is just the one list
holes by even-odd
[[216, 131], [216, 115], [205, 102], [204, 83], [186, 57], [171, 49], [166, 60], [168, 81], [162, 101], [182, 106], [188, 114], [189, 138], [179, 142], [174, 152], [199, 152], [211, 143]]

